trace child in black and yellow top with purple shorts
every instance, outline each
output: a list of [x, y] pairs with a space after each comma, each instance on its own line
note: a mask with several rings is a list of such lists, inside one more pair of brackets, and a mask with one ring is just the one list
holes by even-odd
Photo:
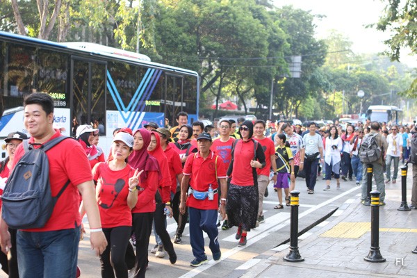
[[[277, 147], [275, 149], [275, 161], [277, 162], [277, 183], [274, 188], [278, 193], [279, 205], [275, 206], [275, 209], [284, 208], [282, 205], [282, 188], [284, 188], [286, 206], [290, 205], [289, 193], [289, 179], [294, 175], [294, 161], [293, 152], [291, 152], [290, 145], [286, 142], [286, 136], [284, 133], [277, 135]], [[291, 170], [291, 175], [290, 175]]]

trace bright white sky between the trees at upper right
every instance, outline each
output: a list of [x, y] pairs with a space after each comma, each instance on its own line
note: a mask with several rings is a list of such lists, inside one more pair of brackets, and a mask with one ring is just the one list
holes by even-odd
[[[326, 17], [315, 20], [316, 38], [325, 38], [331, 29], [343, 33], [353, 42], [352, 51], [355, 54], [375, 54], [387, 49], [384, 40], [388, 33], [365, 28], [367, 24], [378, 22], [384, 10], [380, 0], [274, 0], [275, 6], [292, 5], [302, 10], [311, 10], [313, 15]], [[417, 56], [409, 56], [407, 50], [401, 51], [400, 62], [417, 67]]]

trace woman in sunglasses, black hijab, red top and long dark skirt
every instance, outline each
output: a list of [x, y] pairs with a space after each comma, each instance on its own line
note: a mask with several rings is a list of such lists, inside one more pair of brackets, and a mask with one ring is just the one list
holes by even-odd
[[[242, 139], [236, 140], [232, 149], [227, 177], [231, 177], [227, 192], [226, 211], [229, 226], [237, 226], [238, 246], [246, 245], [247, 232], [256, 226], [259, 194], [256, 168], [265, 167], [265, 154], [261, 144], [252, 139], [254, 124], [245, 121], [239, 128]], [[248, 174], [252, 172], [252, 174]]]

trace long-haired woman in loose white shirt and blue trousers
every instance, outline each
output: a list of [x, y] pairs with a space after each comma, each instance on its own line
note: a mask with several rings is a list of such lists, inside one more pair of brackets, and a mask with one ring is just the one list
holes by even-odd
[[341, 188], [340, 172], [341, 172], [341, 150], [343, 147], [342, 139], [338, 136], [336, 126], [330, 128], [330, 135], [326, 138], [325, 143], [325, 167], [326, 167], [326, 188], [325, 191], [330, 190], [330, 179], [332, 179], [332, 172], [336, 179], [337, 189]]

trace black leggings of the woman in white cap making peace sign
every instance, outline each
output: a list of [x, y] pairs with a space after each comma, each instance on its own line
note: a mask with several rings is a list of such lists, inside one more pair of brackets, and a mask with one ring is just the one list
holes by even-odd
[[[101, 277], [103, 278], [127, 278], [127, 265], [124, 254], [129, 244], [131, 227], [121, 226], [103, 229], [107, 240], [107, 247], [100, 255]], [[116, 276], [115, 276], [116, 274]]]

